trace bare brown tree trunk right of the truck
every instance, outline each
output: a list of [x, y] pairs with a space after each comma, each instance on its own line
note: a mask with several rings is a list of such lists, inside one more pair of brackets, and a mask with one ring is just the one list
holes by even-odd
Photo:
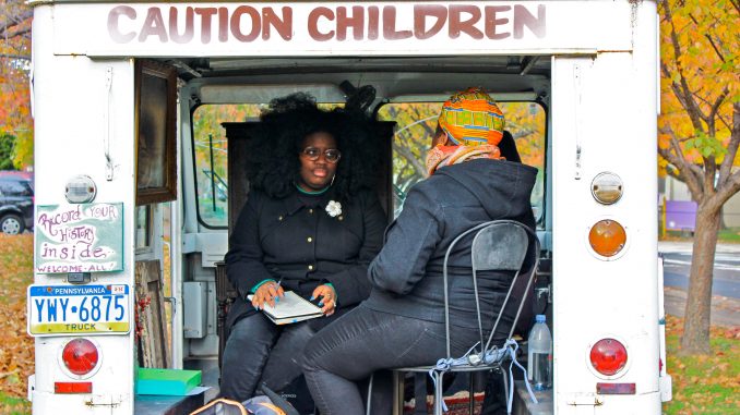
[[689, 278], [689, 298], [681, 353], [708, 354], [709, 314], [712, 306], [712, 277], [714, 273], [714, 254], [717, 248], [719, 229], [719, 209], [700, 204], [696, 212], [694, 246]]

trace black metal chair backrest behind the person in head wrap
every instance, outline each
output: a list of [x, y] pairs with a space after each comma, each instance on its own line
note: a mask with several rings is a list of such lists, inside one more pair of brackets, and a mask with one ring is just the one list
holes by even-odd
[[[490, 222], [480, 223], [476, 227], [468, 229], [467, 231], [461, 233], [455, 240], [452, 241], [447, 252], [444, 255], [444, 267], [443, 267], [443, 280], [444, 280], [444, 321], [446, 330], [446, 352], [447, 358], [450, 358], [450, 302], [447, 294], [447, 259], [450, 253], [455, 248], [455, 245], [462, 241], [464, 237], [473, 234], [473, 243], [470, 246], [470, 263], [473, 266], [472, 278], [473, 278], [473, 288], [476, 298], [476, 312], [478, 316], [478, 330], [480, 333], [480, 344], [481, 353], [488, 350], [493, 340], [493, 334], [496, 329], [499, 326], [501, 316], [509, 305], [509, 300], [511, 298], [512, 291], [518, 277], [522, 274], [522, 267], [524, 266], [525, 259], [529, 248], [534, 251], [533, 255], [535, 257], [533, 272], [529, 273], [529, 279], [522, 296], [516, 317], [512, 322], [511, 331], [509, 337], [511, 338], [516, 321], [522, 313], [522, 307], [524, 306], [524, 300], [529, 293], [529, 288], [534, 280], [535, 271], [537, 269], [537, 264], [539, 261], [539, 240], [537, 235], [524, 224], [513, 221], [513, 220], [493, 220]], [[512, 279], [506, 296], [499, 309], [496, 322], [493, 328], [488, 337], [488, 341], [484, 341], [484, 329], [482, 329], [482, 318], [480, 315], [480, 302], [478, 296], [478, 280], [477, 272], [485, 270], [497, 270], [497, 271], [514, 271], [515, 274]]]

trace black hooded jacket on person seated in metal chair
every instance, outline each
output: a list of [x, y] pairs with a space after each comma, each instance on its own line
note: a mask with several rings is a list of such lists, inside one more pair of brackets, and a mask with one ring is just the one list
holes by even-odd
[[[476, 224], [511, 219], [535, 228], [529, 196], [537, 169], [503, 160], [479, 159], [443, 167], [408, 193], [401, 216], [386, 231], [381, 253], [370, 264], [372, 284], [363, 306], [429, 321], [444, 322], [442, 265], [452, 241]], [[470, 245], [464, 239], [449, 259], [450, 319], [477, 328], [470, 278]], [[492, 321], [513, 273], [478, 274], [484, 321]], [[508, 332], [513, 313], [499, 331]], [[499, 338], [499, 335], [497, 335]]]

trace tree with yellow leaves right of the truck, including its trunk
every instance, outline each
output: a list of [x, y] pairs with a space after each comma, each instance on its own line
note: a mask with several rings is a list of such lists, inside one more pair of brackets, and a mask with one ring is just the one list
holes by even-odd
[[708, 354], [712, 279], [721, 207], [740, 191], [738, 0], [660, 0], [666, 171], [699, 205], [681, 350]]

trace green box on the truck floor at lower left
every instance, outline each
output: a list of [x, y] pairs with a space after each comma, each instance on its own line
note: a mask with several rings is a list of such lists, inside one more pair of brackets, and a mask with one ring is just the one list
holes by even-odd
[[201, 385], [200, 370], [140, 367], [136, 375], [136, 394], [183, 396], [199, 385]]

